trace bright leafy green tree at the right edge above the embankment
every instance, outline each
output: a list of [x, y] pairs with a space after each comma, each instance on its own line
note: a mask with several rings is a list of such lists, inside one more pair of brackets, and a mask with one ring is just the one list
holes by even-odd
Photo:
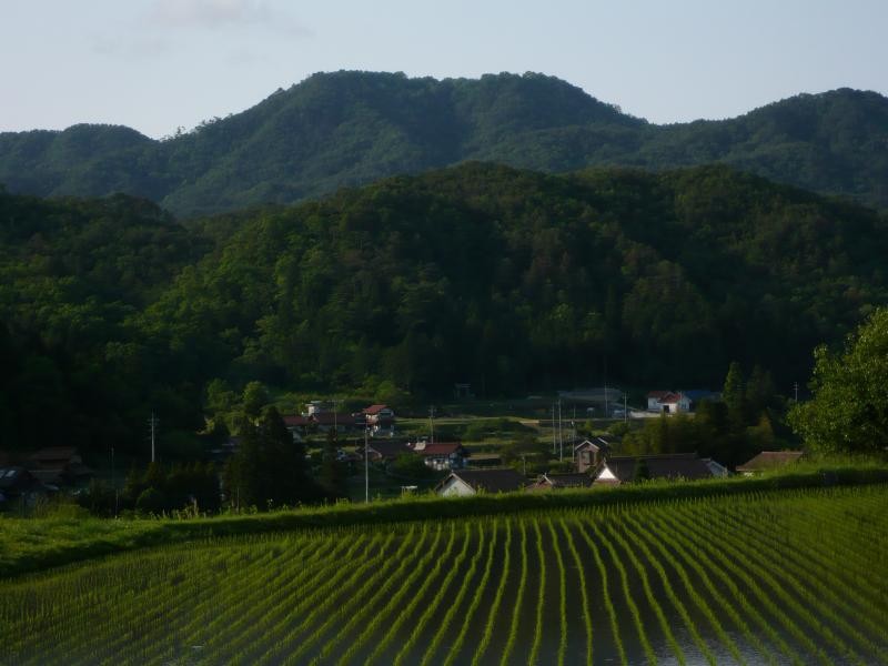
[[809, 451], [876, 453], [888, 445], [888, 309], [852, 333], [841, 352], [814, 351], [814, 398], [789, 412]]

